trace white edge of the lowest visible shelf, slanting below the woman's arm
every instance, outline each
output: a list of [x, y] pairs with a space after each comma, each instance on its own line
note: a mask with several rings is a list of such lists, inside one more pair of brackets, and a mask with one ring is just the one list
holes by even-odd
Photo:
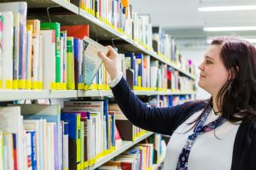
[[[111, 154], [109, 154], [108, 156], [102, 157], [102, 159], [100, 159], [99, 161], [96, 161], [96, 164], [94, 164], [92, 167], [89, 167], [89, 169], [96, 169], [97, 167], [102, 166], [104, 163], [106, 163], [107, 161], [113, 159], [115, 156], [119, 156], [119, 154], [121, 154], [122, 152], [124, 152], [125, 150], [128, 150], [129, 148], [131, 148], [131, 146], [139, 143], [140, 141], [142, 141], [143, 139], [148, 138], [150, 135], [152, 135], [153, 133], [149, 132], [144, 134], [143, 136], [135, 139], [134, 141], [123, 141], [122, 145], [117, 148], [116, 150], [114, 150]], [[124, 143], [124, 144], [123, 144]]]

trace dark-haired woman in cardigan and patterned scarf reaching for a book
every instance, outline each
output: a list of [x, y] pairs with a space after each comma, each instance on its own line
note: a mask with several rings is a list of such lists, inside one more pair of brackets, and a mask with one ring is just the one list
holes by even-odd
[[99, 53], [113, 80], [114, 98], [137, 127], [172, 135], [164, 169], [256, 169], [256, 49], [252, 43], [220, 37], [199, 66], [199, 86], [212, 94], [168, 108], [148, 108], [118, 71], [118, 54]]

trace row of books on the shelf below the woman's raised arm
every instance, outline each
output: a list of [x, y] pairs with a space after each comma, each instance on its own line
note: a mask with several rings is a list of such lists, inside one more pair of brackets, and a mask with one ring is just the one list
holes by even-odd
[[[84, 169], [146, 133], [108, 100], [0, 107], [2, 169]], [[5, 150], [4, 148], [8, 148]], [[0, 169], [1, 169], [0, 167]]]

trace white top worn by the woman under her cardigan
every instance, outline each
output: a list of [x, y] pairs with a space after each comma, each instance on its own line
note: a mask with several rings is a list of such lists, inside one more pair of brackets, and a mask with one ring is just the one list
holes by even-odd
[[[200, 114], [201, 111], [195, 112], [172, 134], [166, 149], [164, 170], [176, 169], [178, 156], [183, 150], [188, 136], [194, 130], [194, 124], [189, 125], [188, 123], [193, 122]], [[218, 116], [211, 111], [204, 125], [217, 118]], [[227, 121], [215, 130], [197, 136], [189, 154], [189, 170], [230, 170], [233, 146], [239, 126], [240, 123], [235, 124]], [[193, 128], [189, 130], [190, 127]], [[187, 132], [188, 130], [189, 132]]]

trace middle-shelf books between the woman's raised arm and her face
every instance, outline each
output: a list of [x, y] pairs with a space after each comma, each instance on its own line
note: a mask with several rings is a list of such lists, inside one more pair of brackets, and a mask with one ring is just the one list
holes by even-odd
[[[189, 77], [179, 75], [172, 67], [150, 59], [149, 55], [125, 54], [126, 81], [133, 90], [194, 91], [194, 82]], [[125, 63], [124, 63], [125, 62]]]

